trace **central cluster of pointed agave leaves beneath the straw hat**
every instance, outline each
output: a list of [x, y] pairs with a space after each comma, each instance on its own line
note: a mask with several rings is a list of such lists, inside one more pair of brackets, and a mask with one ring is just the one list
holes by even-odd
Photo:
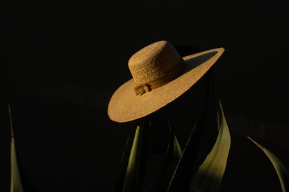
[[150, 145], [147, 145], [147, 143], [149, 143], [151, 127], [145, 119], [137, 122], [126, 143], [114, 191], [180, 191], [180, 189], [183, 189], [183, 183], [180, 181], [183, 181], [184, 171], [190, 172], [189, 175], [192, 176], [190, 182], [186, 184], [188, 191], [217, 191], [224, 175], [231, 145], [230, 132], [222, 105], [220, 105], [220, 110], [222, 119], [217, 141], [204, 162], [197, 169], [197, 172], [188, 171], [187, 165], [189, 162], [191, 167], [194, 166], [195, 159], [193, 158], [196, 158], [195, 154], [197, 152], [197, 139], [195, 138], [198, 130], [201, 130], [201, 123], [196, 124], [192, 129], [183, 152], [176, 136], [170, 131], [170, 142], [163, 163], [146, 185], [143, 185], [142, 182], [145, 178], [147, 159], [149, 159], [147, 156], [149, 155]]

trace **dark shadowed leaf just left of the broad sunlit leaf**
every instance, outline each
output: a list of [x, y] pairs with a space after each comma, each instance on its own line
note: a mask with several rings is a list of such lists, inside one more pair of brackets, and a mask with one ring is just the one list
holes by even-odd
[[192, 128], [183, 149], [183, 155], [176, 167], [167, 192], [189, 191], [197, 169], [204, 162], [206, 154], [213, 148], [219, 133], [219, 114], [214, 74], [208, 71], [208, 95], [204, 108], [198, 112], [199, 118]]

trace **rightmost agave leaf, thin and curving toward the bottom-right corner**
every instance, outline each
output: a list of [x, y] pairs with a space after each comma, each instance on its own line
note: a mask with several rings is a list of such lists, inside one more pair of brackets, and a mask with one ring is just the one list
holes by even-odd
[[256, 141], [248, 137], [253, 143], [256, 144], [267, 157], [270, 159], [270, 162], [273, 164], [275, 171], [279, 177], [279, 181], [281, 183], [282, 191], [286, 192], [289, 191], [289, 172], [287, 171], [286, 167], [283, 165], [283, 163], [274, 155], [272, 152], [258, 144]]

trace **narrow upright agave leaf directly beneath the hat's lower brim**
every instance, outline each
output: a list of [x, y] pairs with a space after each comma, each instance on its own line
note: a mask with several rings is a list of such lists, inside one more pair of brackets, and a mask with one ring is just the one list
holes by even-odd
[[151, 132], [145, 119], [140, 119], [135, 123], [122, 155], [113, 189], [115, 192], [139, 191], [145, 174], [151, 148]]

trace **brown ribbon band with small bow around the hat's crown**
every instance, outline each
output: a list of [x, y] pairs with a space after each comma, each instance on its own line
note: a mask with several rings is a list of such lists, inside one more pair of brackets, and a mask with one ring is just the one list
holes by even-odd
[[155, 80], [152, 80], [146, 84], [140, 85], [135, 83], [135, 95], [145, 94], [146, 92], [161, 87], [167, 84], [167, 82], [174, 80], [175, 78], [179, 77], [181, 73], [183, 73], [185, 66], [185, 62], [183, 58], [181, 58], [179, 63], [172, 67], [172, 69], [167, 71], [165, 74], [163, 74], [163, 76], [160, 76], [159, 78], [156, 78]]

